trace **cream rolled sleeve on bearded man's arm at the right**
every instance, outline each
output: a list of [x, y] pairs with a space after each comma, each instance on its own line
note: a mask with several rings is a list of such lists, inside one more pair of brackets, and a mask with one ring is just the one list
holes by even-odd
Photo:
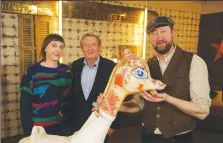
[[211, 106], [207, 65], [202, 58], [193, 56], [190, 69], [191, 101], [199, 104], [208, 114]]

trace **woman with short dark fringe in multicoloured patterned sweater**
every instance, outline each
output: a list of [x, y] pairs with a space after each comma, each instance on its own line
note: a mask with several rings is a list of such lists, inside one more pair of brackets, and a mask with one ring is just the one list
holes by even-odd
[[43, 126], [48, 134], [71, 134], [63, 114], [72, 83], [70, 68], [59, 63], [64, 48], [60, 35], [48, 35], [41, 49], [42, 60], [29, 67], [22, 78], [20, 114], [26, 136], [34, 125]]

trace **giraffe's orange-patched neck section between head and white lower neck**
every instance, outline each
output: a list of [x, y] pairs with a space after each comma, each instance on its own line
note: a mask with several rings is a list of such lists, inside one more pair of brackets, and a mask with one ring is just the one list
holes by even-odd
[[104, 93], [104, 100], [99, 105], [99, 108], [109, 115], [116, 116], [126, 96], [126, 91], [123, 88], [111, 85], [107, 92]]

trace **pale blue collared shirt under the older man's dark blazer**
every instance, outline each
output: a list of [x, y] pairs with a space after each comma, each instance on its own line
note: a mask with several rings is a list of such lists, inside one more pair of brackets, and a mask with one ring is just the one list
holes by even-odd
[[98, 70], [99, 61], [100, 61], [100, 56], [95, 61], [94, 65], [90, 67], [87, 64], [86, 59], [84, 60], [84, 63], [83, 63], [84, 67], [81, 73], [81, 86], [82, 86], [82, 90], [84, 92], [84, 97], [86, 100], [88, 99], [92, 86], [94, 84], [95, 76]]

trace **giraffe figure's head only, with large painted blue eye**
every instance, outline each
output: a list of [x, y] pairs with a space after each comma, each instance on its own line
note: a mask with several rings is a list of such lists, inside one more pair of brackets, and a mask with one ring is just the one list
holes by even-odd
[[[114, 68], [109, 86], [122, 88], [126, 95], [141, 91], [153, 91], [165, 88], [165, 84], [151, 78], [148, 64], [140, 58], [124, 58]], [[106, 88], [106, 89], [107, 89]]]

